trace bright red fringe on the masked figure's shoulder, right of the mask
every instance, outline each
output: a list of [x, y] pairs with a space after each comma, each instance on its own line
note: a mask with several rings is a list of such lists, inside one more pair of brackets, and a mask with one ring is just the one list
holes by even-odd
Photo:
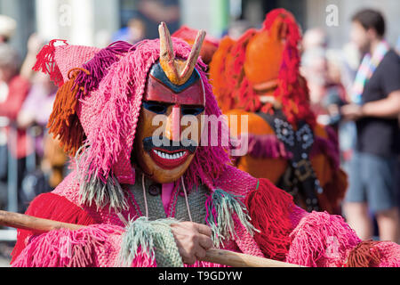
[[255, 233], [254, 240], [262, 253], [267, 258], [284, 260], [291, 244], [292, 196], [261, 178], [259, 188], [247, 195], [245, 204], [252, 225], [260, 230]]

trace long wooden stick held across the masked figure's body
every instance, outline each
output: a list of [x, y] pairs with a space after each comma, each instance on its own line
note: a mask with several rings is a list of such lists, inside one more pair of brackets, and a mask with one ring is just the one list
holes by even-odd
[[[84, 228], [84, 225], [82, 224], [61, 223], [36, 216], [28, 216], [6, 211], [0, 211], [0, 224], [38, 233], [59, 230], [62, 228], [72, 231]], [[232, 267], [302, 267], [300, 265], [292, 265], [273, 259], [244, 255], [242, 253], [215, 248], [207, 250], [202, 261]]]

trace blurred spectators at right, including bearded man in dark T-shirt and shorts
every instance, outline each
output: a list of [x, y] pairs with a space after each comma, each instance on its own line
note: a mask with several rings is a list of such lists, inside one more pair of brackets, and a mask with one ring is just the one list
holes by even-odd
[[364, 9], [351, 21], [341, 50], [329, 48], [323, 28], [308, 29], [301, 71], [318, 122], [339, 134], [348, 224], [363, 240], [399, 242], [399, 46], [388, 45], [380, 12]]

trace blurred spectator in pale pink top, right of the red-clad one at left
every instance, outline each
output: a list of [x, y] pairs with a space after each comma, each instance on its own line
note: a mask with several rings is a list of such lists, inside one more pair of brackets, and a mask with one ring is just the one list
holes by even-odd
[[[52, 113], [57, 86], [49, 75], [35, 72], [36, 53], [43, 47], [44, 41], [36, 34], [28, 39], [28, 54], [22, 65], [21, 74], [29, 77], [32, 86], [23, 103], [17, 123], [27, 130], [35, 148], [35, 169], [25, 176], [22, 191], [30, 201], [36, 195], [54, 189], [64, 178], [67, 155], [60, 147], [60, 141], [47, 133], [47, 122]], [[30, 183], [28, 183], [30, 182]]]

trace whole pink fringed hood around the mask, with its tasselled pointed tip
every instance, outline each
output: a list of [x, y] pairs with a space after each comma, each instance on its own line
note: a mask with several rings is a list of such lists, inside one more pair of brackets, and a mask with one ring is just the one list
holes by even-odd
[[[77, 173], [83, 184], [81, 191], [85, 184], [106, 189], [105, 193], [99, 193], [101, 199], [93, 199], [98, 206], [111, 202], [111, 207], [124, 207], [123, 202], [113, 203], [110, 199], [116, 193], [124, 197], [120, 184], [135, 181], [131, 163], [133, 140], [148, 72], [159, 60], [159, 40], [144, 40], [137, 45], [116, 42], [104, 49], [68, 45], [65, 41], [66, 45], [56, 46], [56, 41], [44, 46], [37, 55], [34, 69], [49, 73], [60, 89], [68, 79], [74, 80], [75, 111], [84, 131], [84, 142], [76, 152]], [[187, 59], [190, 46], [173, 37], [172, 43], [175, 56]], [[71, 69], [76, 69], [76, 77], [70, 77]], [[196, 69], [204, 83], [205, 114], [220, 116], [203, 61], [197, 61]], [[67, 132], [72, 128], [69, 126]], [[210, 126], [208, 135], [212, 135]], [[184, 175], [188, 189], [198, 183], [213, 188], [212, 181], [220, 175], [227, 161], [223, 147], [199, 146]]]

